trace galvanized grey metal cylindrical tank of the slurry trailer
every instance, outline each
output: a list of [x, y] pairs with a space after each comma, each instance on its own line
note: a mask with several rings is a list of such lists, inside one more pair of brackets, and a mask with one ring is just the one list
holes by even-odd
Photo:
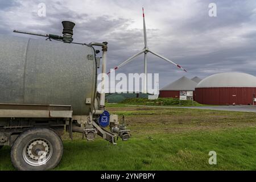
[[73, 115], [88, 115], [96, 79], [92, 47], [0, 35], [0, 103], [72, 105]]

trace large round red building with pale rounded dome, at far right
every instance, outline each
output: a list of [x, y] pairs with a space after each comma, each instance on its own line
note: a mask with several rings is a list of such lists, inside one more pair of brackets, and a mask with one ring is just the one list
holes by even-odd
[[200, 81], [195, 92], [200, 104], [253, 105], [256, 77], [247, 73], [218, 73]]

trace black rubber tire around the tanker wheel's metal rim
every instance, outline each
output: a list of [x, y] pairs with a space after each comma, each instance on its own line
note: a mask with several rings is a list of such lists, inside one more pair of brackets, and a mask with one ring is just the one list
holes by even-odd
[[[24, 159], [23, 150], [27, 148], [27, 143], [38, 138], [42, 140], [45, 139], [50, 143], [52, 146], [52, 154], [46, 164], [32, 166]], [[11, 162], [13, 166], [20, 171], [44, 171], [55, 168], [57, 164], [59, 164], [62, 154], [63, 143], [55, 131], [47, 128], [32, 128], [24, 131], [15, 140], [13, 147], [11, 147]]]

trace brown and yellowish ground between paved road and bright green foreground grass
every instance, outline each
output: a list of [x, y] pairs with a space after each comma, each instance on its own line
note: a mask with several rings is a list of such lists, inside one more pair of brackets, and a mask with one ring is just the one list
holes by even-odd
[[135, 132], [143, 133], [154, 133], [154, 127], [157, 132], [172, 133], [256, 126], [256, 113], [141, 106], [109, 107], [108, 111], [118, 114], [119, 120], [125, 115]]

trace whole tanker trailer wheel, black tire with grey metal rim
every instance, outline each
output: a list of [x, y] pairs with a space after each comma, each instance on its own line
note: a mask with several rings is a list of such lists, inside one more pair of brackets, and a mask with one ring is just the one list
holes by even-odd
[[32, 128], [24, 131], [11, 147], [11, 162], [18, 170], [48, 170], [59, 164], [63, 143], [51, 129]]

